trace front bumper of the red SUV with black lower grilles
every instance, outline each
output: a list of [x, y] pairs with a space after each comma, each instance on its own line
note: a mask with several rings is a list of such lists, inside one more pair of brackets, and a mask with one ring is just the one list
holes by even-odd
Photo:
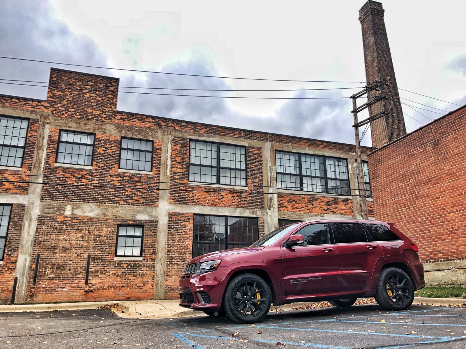
[[205, 274], [183, 275], [179, 280], [179, 305], [193, 310], [221, 309], [225, 289], [221, 276], [225, 269], [219, 267]]

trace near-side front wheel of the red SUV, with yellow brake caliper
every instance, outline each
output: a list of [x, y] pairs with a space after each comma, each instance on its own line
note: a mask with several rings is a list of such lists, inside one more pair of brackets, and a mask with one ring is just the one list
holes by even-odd
[[272, 293], [260, 276], [241, 274], [235, 276], [225, 289], [223, 306], [226, 315], [234, 322], [261, 322], [270, 310]]

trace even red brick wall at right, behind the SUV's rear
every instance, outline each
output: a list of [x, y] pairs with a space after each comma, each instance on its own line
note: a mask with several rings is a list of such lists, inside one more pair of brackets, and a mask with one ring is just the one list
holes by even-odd
[[369, 155], [376, 218], [424, 262], [466, 258], [466, 107]]

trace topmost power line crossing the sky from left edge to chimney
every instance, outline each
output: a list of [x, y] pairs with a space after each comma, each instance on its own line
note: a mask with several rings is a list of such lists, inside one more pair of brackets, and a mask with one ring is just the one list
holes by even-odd
[[231, 76], [216, 76], [216, 75], [200, 75], [200, 74], [183, 74], [183, 73], [166, 73], [166, 72], [156, 72], [151, 70], [138, 70], [138, 69], [124, 69], [124, 68], [113, 68], [113, 67], [100, 67], [100, 66], [89, 66], [86, 64], [73, 64], [73, 63], [62, 63], [62, 62], [53, 62], [48, 60], [31, 60], [26, 58], [18, 57], [7, 57], [0, 56], [0, 58], [8, 60], [23, 60], [28, 62], [39, 62], [39, 63], [49, 63], [49, 64], [60, 64], [64, 66], [73, 66], [73, 67], [87, 67], [87, 68], [97, 68], [97, 69], [109, 69], [109, 70], [121, 70], [127, 72], [138, 72], [138, 73], [153, 73], [153, 74], [168, 74], [168, 75], [182, 75], [182, 76], [199, 76], [204, 78], [220, 78], [220, 79], [236, 79], [236, 80], [257, 80], [257, 81], [291, 81], [291, 82], [341, 82], [341, 83], [367, 83], [368, 81], [318, 81], [318, 80], [286, 80], [286, 79], [258, 79], [258, 78], [237, 78]]

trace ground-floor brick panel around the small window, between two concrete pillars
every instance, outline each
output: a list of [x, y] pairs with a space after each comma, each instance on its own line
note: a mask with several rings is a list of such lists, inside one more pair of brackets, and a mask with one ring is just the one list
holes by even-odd
[[[114, 260], [117, 224], [144, 225], [142, 261]], [[151, 299], [156, 238], [157, 221], [40, 215], [27, 302]], [[32, 285], [37, 253], [40, 253], [37, 283]], [[89, 284], [85, 285], [88, 254], [91, 255]]]

